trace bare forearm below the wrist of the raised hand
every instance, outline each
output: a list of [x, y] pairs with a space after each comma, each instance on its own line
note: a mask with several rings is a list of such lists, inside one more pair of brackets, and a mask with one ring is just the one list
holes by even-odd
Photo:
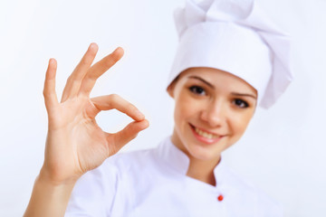
[[24, 217], [64, 216], [74, 184], [51, 184], [38, 176]]

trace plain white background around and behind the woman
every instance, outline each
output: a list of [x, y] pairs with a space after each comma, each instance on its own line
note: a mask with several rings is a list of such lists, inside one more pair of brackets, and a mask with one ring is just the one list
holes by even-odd
[[[150, 127], [123, 151], [156, 146], [173, 127], [165, 85], [177, 47], [172, 12], [183, 0], [2, 0], [0, 2], [0, 216], [22, 216], [43, 163], [43, 79], [58, 61], [57, 93], [86, 51], [97, 60], [117, 46], [123, 59], [92, 96], [118, 93], [142, 110]], [[229, 165], [283, 203], [285, 216], [326, 216], [326, 1], [258, 0], [292, 34], [295, 80], [269, 110], [258, 109], [245, 137], [225, 152]], [[115, 131], [129, 118], [97, 118]]]

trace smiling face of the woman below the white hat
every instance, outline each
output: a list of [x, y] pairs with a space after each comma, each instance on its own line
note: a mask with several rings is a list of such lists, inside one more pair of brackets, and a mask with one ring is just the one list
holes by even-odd
[[245, 80], [212, 68], [182, 72], [168, 94], [176, 103], [172, 142], [190, 160], [219, 160], [244, 134], [257, 101]]

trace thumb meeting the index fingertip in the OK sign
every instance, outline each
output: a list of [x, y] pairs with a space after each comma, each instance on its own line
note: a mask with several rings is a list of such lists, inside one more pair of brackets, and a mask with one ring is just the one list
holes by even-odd
[[141, 121], [133, 121], [129, 123], [126, 127], [115, 134], [107, 134], [107, 139], [110, 145], [113, 145], [114, 148], [110, 148], [112, 153], [110, 156], [117, 153], [122, 146], [125, 146], [129, 141], [137, 137], [141, 130], [149, 127], [149, 121], [147, 119]]

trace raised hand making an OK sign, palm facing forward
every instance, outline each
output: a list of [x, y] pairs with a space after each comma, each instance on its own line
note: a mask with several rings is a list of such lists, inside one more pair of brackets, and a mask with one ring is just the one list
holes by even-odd
[[[61, 102], [55, 93], [56, 61], [49, 61], [43, 90], [49, 126], [40, 178], [53, 184], [75, 182], [149, 126], [144, 115], [118, 95], [90, 99], [96, 80], [123, 55], [123, 50], [117, 48], [91, 66], [97, 51], [98, 46], [91, 43], [67, 80]], [[118, 133], [106, 133], [96, 124], [95, 117], [109, 109], [118, 109], [134, 121]]]

